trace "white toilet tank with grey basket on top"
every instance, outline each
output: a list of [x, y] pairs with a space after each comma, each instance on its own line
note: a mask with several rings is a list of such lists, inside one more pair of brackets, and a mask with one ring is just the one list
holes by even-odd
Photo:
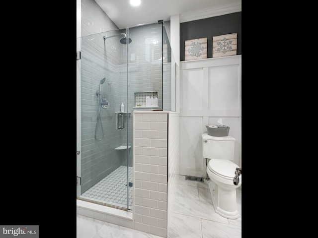
[[235, 138], [202, 134], [203, 158], [234, 161]]

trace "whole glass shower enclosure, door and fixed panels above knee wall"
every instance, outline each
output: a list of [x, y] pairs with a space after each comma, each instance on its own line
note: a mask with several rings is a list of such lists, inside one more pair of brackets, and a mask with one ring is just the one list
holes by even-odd
[[80, 38], [78, 199], [132, 210], [133, 111], [171, 110], [169, 60], [163, 23]]

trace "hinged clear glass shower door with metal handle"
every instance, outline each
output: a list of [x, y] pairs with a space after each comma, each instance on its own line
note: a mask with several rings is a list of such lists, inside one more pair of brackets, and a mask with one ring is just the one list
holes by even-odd
[[128, 37], [125, 28], [80, 38], [77, 197], [132, 210]]

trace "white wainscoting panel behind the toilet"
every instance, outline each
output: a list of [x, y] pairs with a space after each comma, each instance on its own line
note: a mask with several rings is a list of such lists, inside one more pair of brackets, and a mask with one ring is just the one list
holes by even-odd
[[180, 175], [206, 178], [206, 124], [230, 126], [241, 167], [241, 55], [180, 62]]

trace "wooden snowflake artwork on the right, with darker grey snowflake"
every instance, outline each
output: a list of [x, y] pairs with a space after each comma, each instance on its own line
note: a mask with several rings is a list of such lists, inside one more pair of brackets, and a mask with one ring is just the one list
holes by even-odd
[[236, 56], [238, 33], [214, 36], [212, 39], [212, 58]]

